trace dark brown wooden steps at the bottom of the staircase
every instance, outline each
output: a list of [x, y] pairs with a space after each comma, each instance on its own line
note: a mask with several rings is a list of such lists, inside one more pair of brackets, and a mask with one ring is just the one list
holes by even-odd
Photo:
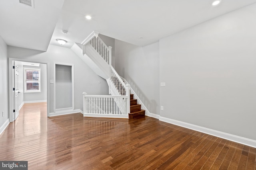
[[141, 104], [137, 104], [137, 99], [134, 99], [133, 96], [134, 96], [133, 94], [130, 94], [129, 119], [134, 119], [135, 117], [145, 115], [145, 110], [141, 109]]

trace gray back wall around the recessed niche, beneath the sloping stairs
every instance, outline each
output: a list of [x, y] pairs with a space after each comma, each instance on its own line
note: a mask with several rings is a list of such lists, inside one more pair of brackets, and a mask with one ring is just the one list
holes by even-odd
[[[8, 46], [8, 57], [26, 59], [30, 61], [49, 62], [50, 77], [53, 80], [53, 63], [74, 64], [74, 98], [75, 109], [83, 109], [82, 93], [94, 95], [107, 95], [108, 84], [106, 80], [96, 75], [73, 51], [68, 48], [49, 45], [46, 52]], [[100, 83], [99, 83], [100, 82]], [[50, 113], [53, 113], [53, 84], [50, 84]], [[58, 100], [58, 99], [56, 99]]]

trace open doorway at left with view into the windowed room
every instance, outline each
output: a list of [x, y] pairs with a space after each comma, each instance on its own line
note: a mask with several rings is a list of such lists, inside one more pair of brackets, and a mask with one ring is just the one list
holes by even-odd
[[49, 64], [9, 58], [9, 118], [18, 118], [20, 108], [26, 103], [47, 102], [49, 116]]

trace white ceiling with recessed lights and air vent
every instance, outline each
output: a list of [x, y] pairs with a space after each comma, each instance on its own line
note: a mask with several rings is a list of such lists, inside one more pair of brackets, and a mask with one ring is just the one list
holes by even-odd
[[[0, 36], [11, 46], [46, 51], [81, 43], [92, 31], [138, 46], [256, 3], [256, 0], [1, 0]], [[91, 15], [87, 20], [85, 15]], [[68, 31], [63, 34], [62, 31]], [[143, 38], [139, 38], [143, 37]], [[59, 45], [60, 46], [60, 45]]]

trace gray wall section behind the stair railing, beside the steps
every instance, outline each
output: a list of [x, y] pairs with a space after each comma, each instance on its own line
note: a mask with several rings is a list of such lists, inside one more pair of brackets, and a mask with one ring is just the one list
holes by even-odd
[[150, 111], [159, 114], [159, 43], [138, 47], [115, 40], [115, 69]]

